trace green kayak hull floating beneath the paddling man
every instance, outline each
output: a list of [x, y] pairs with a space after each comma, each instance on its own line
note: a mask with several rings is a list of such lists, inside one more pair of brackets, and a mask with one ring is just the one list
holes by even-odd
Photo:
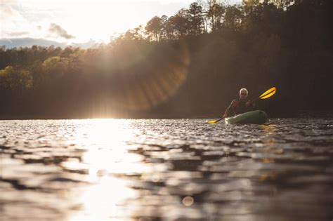
[[261, 110], [246, 112], [226, 118], [226, 123], [256, 123], [261, 124], [267, 121], [267, 114]]

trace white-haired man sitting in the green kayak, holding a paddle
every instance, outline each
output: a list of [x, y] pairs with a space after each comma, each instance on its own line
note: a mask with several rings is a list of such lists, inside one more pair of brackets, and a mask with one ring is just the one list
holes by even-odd
[[231, 102], [223, 117], [235, 116], [256, 109], [256, 105], [247, 99], [248, 93], [246, 88], [240, 89], [240, 98]]

